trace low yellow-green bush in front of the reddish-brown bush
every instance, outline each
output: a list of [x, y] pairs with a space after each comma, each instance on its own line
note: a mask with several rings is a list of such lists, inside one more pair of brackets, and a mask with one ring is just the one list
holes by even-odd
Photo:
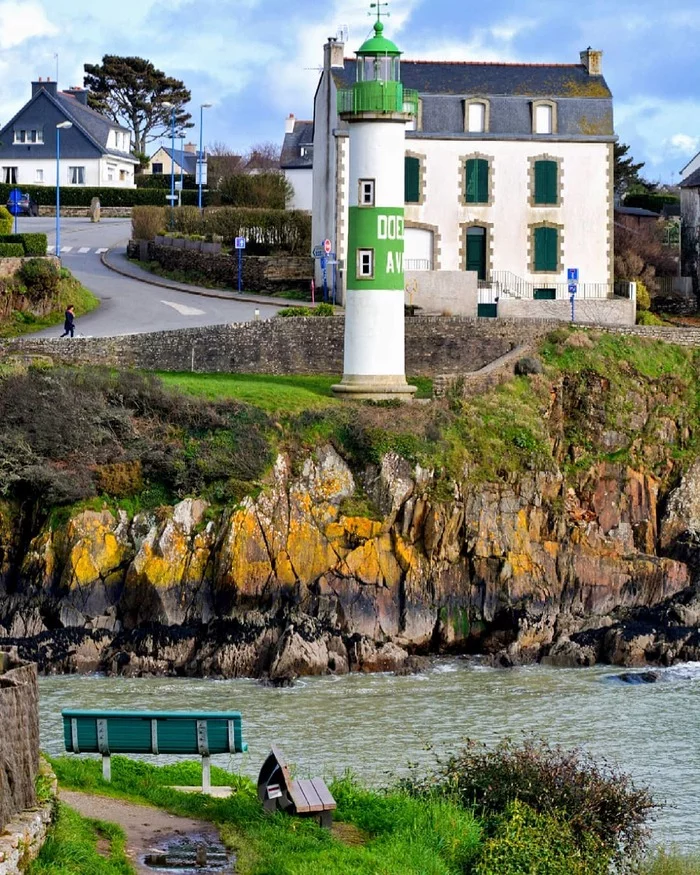
[[608, 859], [594, 840], [582, 850], [564, 821], [516, 801], [497, 818], [473, 871], [474, 875], [606, 875], [608, 868]]

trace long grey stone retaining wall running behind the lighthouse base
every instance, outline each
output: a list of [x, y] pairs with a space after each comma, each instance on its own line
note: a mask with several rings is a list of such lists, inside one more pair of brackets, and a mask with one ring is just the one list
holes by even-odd
[[[464, 374], [521, 344], [536, 343], [561, 322], [416, 316], [406, 319], [406, 373]], [[700, 347], [700, 328], [586, 326], [616, 334]], [[341, 374], [344, 319], [271, 319], [152, 334], [73, 340], [0, 341], [0, 360], [50, 359], [63, 364], [238, 374]], [[58, 335], [57, 330], [57, 335]]]

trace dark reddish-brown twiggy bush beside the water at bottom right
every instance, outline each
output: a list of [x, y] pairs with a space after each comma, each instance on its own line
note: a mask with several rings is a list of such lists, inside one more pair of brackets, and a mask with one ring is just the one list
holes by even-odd
[[581, 853], [593, 839], [620, 872], [630, 871], [643, 851], [646, 821], [656, 807], [628, 775], [597, 765], [580, 749], [533, 739], [521, 745], [506, 739], [491, 749], [470, 741], [435, 773], [410, 784], [414, 792], [438, 792], [474, 807], [487, 829], [498, 829], [499, 818], [518, 800], [564, 821]]

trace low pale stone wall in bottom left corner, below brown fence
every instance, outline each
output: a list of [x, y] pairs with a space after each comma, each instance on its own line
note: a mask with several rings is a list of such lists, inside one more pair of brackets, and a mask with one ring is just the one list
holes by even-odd
[[19, 875], [36, 859], [43, 847], [56, 813], [58, 784], [46, 760], [39, 763], [39, 774], [48, 798], [34, 808], [20, 812], [0, 834], [0, 875]]

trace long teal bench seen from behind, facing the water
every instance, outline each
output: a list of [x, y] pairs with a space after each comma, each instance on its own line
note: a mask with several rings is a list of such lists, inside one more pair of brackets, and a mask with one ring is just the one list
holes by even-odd
[[102, 775], [112, 778], [113, 753], [199, 754], [202, 791], [211, 789], [215, 753], [244, 753], [240, 711], [74, 711], [65, 709], [63, 738], [69, 753], [102, 754]]

